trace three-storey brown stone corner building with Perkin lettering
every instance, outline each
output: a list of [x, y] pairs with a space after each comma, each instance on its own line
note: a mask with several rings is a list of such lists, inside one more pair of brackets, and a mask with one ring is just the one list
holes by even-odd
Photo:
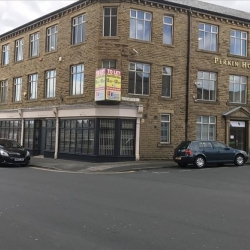
[[[79, 0], [0, 35], [0, 137], [93, 161], [171, 159], [185, 139], [249, 151], [249, 30], [195, 0]], [[96, 99], [102, 68], [118, 101]]]

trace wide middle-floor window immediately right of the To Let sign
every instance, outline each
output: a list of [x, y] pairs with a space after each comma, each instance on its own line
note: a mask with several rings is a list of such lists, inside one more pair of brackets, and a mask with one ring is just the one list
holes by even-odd
[[135, 95], [149, 95], [149, 78], [149, 64], [129, 63], [128, 93]]

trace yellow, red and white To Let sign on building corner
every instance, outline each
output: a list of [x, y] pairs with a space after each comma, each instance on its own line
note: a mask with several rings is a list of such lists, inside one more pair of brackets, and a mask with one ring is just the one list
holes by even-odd
[[121, 71], [98, 69], [95, 73], [95, 101], [121, 101]]

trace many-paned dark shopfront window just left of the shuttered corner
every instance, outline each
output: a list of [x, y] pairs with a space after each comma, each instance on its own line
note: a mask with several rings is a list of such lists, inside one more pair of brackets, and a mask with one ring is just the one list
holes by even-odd
[[60, 120], [59, 151], [94, 154], [95, 120]]

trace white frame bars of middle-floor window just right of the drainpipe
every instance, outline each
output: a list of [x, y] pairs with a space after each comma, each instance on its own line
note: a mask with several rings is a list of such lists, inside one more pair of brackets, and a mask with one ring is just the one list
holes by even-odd
[[[202, 74], [202, 77], [199, 77], [199, 75]], [[205, 75], [209, 74], [209, 79], [205, 78]], [[204, 97], [204, 86], [206, 83], [209, 82], [209, 98], [205, 99]], [[211, 97], [211, 88], [214, 84], [214, 99]], [[201, 86], [201, 88], [199, 88]], [[202, 100], [202, 101], [211, 101], [215, 102], [216, 101], [216, 94], [217, 94], [217, 73], [216, 72], [208, 72], [208, 71], [198, 71], [197, 73], [197, 82], [196, 82], [196, 87], [197, 87], [197, 100]], [[198, 96], [198, 91], [201, 90], [201, 93]]]

